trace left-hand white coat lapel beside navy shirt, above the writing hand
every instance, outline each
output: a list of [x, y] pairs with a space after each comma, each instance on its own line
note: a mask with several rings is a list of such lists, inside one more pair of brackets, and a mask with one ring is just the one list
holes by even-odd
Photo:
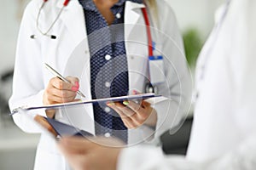
[[[62, 3], [63, 1], [59, 1], [57, 7], [61, 9], [63, 6]], [[71, 0], [67, 7], [63, 9], [60, 19], [72, 36], [70, 38], [70, 47], [68, 48], [76, 48], [72, 54], [75, 57], [70, 57], [68, 62], [75, 63], [77, 68], [67, 68], [66, 71], [68, 75], [73, 75], [81, 79], [80, 89], [86, 92], [86, 99], [91, 99], [90, 90], [88, 90], [90, 89], [90, 50], [85, 27], [84, 9], [79, 1]]]

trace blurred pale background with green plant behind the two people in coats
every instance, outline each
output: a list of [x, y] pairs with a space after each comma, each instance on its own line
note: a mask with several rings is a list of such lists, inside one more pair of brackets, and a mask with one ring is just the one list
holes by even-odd
[[[9, 109], [7, 105], [11, 94], [11, 76], [15, 63], [16, 39], [21, 16], [28, 2], [29, 0], [1, 0], [0, 6], [1, 170], [32, 169], [39, 138], [37, 134], [22, 133], [19, 128], [15, 127], [11, 117], [8, 115]], [[193, 68], [201, 46], [212, 29], [214, 11], [221, 3], [224, 3], [224, 0], [166, 0], [166, 2], [172, 6], [177, 15], [177, 21], [183, 33], [186, 54]], [[178, 144], [187, 144], [190, 127], [191, 120], [183, 126], [181, 134], [179, 133], [177, 136], [172, 137], [172, 141], [176, 139]], [[166, 134], [163, 139], [168, 140], [170, 136]], [[180, 141], [181, 139], [186, 140]], [[177, 147], [180, 147], [180, 145], [177, 145]], [[166, 153], [169, 153], [168, 148], [168, 145], [164, 148]]]

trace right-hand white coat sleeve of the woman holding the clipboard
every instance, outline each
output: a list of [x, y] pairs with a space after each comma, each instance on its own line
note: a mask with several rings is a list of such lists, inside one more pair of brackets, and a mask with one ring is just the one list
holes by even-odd
[[[154, 105], [158, 114], [154, 139], [150, 141], [154, 144], [159, 143], [160, 135], [166, 130], [178, 129], [183, 124], [183, 120], [190, 111], [193, 88], [176, 16], [164, 1], [158, 2], [157, 12], [158, 22], [155, 25], [157, 41], [161, 44], [160, 54], [164, 57], [166, 76], [166, 82], [157, 88], [158, 94], [170, 100]], [[175, 133], [175, 130], [172, 133]]]

